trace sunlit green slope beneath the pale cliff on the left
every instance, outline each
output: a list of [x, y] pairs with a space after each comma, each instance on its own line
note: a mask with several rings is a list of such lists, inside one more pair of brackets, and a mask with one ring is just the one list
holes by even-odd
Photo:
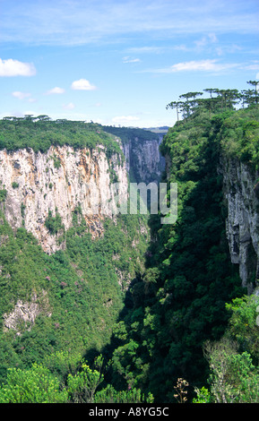
[[71, 357], [95, 357], [109, 345], [129, 279], [142, 271], [148, 233], [140, 238], [138, 230], [146, 217], [121, 215], [117, 225], [107, 219], [104, 236], [93, 241], [77, 209], [65, 250], [51, 255], [24, 228], [14, 233], [2, 211], [0, 222], [1, 314], [10, 314], [18, 300], [35, 303], [33, 296], [41, 310], [35, 323], [1, 330], [1, 381], [7, 369], [30, 369], [64, 349]]

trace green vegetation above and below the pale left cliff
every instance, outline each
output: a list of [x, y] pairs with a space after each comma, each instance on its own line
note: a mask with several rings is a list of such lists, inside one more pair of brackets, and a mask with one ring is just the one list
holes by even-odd
[[[0, 125], [1, 147], [7, 150], [32, 148], [44, 152], [52, 144], [90, 149], [102, 144], [108, 159], [111, 153], [121, 153], [115, 136], [104, 133], [99, 125], [53, 122], [47, 116], [5, 117]], [[57, 159], [54, 165], [60, 165]], [[65, 242], [65, 250], [47, 255], [26, 229], [14, 232], [5, 220], [6, 193], [4, 189], [0, 191], [1, 314], [7, 320], [18, 302], [39, 306], [35, 322], [14, 320], [12, 329], [2, 328], [0, 332], [0, 382], [4, 384], [18, 376], [22, 384], [22, 373], [25, 379], [31, 370], [32, 376], [35, 370], [45, 375], [46, 369], [51, 378], [55, 376], [56, 353], [64, 349], [66, 358], [73, 359], [80, 369], [82, 357], [92, 362], [104, 347], [110, 347], [126, 288], [143, 270], [149, 234], [146, 215], [118, 215], [116, 223], [103, 220], [104, 236], [93, 241], [80, 206], [73, 212], [73, 228], [66, 232], [60, 215], [53, 216], [49, 211], [45, 225], [51, 236], [58, 234]], [[21, 211], [24, 214], [23, 203]], [[51, 364], [46, 365], [46, 360]], [[14, 370], [11, 377], [9, 370]], [[62, 384], [68, 374], [67, 369]], [[115, 395], [112, 388], [108, 393], [114, 400], [133, 399], [130, 395], [141, 400], [137, 391], [135, 395], [125, 392], [124, 398]], [[60, 395], [53, 399], [63, 398]]]

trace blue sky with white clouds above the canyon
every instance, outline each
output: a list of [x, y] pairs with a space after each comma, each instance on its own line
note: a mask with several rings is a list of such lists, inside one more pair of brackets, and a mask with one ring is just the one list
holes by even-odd
[[258, 0], [0, 0], [0, 118], [172, 126], [180, 95], [258, 78]]

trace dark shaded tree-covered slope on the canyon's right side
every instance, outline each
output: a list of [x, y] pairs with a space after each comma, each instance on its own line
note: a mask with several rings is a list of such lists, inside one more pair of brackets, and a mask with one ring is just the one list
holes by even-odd
[[[170, 158], [164, 181], [178, 186], [177, 223], [161, 226], [160, 215], [151, 215], [154, 241], [146, 271], [134, 283], [131, 308], [116, 331], [115, 372], [132, 386], [151, 391], [159, 402], [176, 401], [178, 378], [188, 382], [191, 399], [194, 388], [207, 384], [212, 365], [204, 358], [203, 344], [221, 339], [229, 323], [226, 303], [246, 294], [229, 259], [217, 167], [225, 154], [245, 161], [251, 171], [258, 168], [259, 109], [254, 101], [235, 110], [230, 100], [222, 104], [221, 96], [213, 105], [213, 112], [207, 101], [186, 107], [188, 116], [164, 137], [161, 151]], [[249, 358], [244, 361], [247, 376], [254, 370]]]

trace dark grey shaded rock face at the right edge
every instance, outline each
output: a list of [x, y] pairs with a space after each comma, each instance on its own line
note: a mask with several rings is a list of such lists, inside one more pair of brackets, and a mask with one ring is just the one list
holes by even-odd
[[238, 160], [224, 159], [223, 175], [227, 201], [227, 236], [231, 262], [239, 265], [242, 286], [252, 293], [259, 278], [259, 184], [258, 174]]

